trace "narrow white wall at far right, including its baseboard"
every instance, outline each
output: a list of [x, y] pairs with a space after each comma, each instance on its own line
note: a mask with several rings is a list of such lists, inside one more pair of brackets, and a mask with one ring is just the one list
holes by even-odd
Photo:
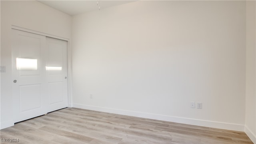
[[245, 132], [256, 144], [256, 2], [246, 2]]

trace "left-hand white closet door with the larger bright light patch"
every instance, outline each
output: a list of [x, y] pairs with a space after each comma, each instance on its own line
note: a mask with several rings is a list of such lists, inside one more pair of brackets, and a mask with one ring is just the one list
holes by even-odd
[[14, 122], [47, 113], [46, 37], [12, 30]]

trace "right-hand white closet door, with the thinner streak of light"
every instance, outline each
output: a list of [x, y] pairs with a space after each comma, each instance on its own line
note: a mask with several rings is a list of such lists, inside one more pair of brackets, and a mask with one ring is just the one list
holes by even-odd
[[67, 41], [46, 37], [48, 112], [68, 106]]

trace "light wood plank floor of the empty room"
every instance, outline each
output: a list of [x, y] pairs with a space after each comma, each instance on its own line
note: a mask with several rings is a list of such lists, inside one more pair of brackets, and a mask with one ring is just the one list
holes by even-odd
[[64, 108], [0, 132], [1, 141], [19, 138], [19, 143], [31, 144], [253, 144], [244, 132], [78, 108]]

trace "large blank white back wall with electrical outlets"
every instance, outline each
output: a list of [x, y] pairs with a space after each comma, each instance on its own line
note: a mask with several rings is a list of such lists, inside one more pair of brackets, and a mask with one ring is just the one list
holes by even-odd
[[[245, 3], [138, 1], [73, 16], [74, 106], [243, 130]], [[192, 101], [203, 108], [190, 108]]]

